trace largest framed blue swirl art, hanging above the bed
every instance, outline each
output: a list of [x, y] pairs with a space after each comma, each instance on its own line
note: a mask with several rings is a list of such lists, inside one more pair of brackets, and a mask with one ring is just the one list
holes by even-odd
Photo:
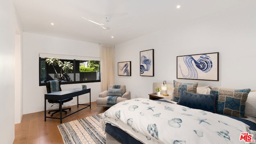
[[177, 56], [177, 78], [219, 81], [219, 52]]

